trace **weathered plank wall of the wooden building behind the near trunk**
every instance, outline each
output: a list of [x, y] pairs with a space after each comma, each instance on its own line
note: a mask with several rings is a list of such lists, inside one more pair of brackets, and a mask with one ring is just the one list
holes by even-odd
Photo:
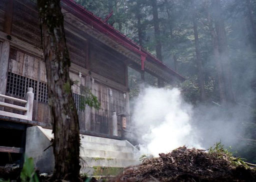
[[[6, 0], [0, 1], [1, 31], [5, 4]], [[124, 113], [127, 108], [128, 100], [123, 96], [123, 91], [127, 91], [127, 72], [125, 71], [127, 66], [120, 58], [113, 56], [116, 54], [114, 50], [109, 52], [95, 43], [97, 41], [91, 43], [90, 40], [93, 37], [88, 37], [77, 27], [70, 27], [68, 22], [65, 22], [65, 26], [70, 59], [77, 65], [76, 68], [78, 67], [81, 75], [79, 76], [79, 72], [72, 71], [72, 69], [70, 71], [71, 79], [78, 81], [72, 86], [72, 90], [73, 97], [78, 104], [80, 129], [111, 134], [112, 112]], [[40, 47], [38, 14], [36, 5], [30, 0], [13, 1], [11, 36]], [[49, 123], [46, 70], [41, 56], [11, 46], [8, 61], [6, 94], [24, 98], [26, 91], [24, 89], [32, 86], [35, 93], [32, 119]], [[97, 76], [92, 77], [92, 75]], [[84, 109], [79, 107], [79, 98], [83, 94], [82, 87], [91, 89], [91, 92], [97, 96], [101, 104], [100, 109], [97, 110], [89, 106], [85, 106]], [[18, 113], [18, 111], [14, 112]], [[121, 116], [118, 116], [118, 135], [121, 135]]]

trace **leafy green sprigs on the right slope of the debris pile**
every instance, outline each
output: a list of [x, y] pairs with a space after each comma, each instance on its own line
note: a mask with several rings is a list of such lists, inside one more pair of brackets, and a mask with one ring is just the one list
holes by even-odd
[[[231, 147], [229, 146], [231, 149]], [[228, 149], [224, 148], [224, 145], [221, 142], [217, 142], [213, 147], [209, 148], [209, 153], [217, 155], [218, 158], [228, 160], [232, 166], [242, 166], [245, 168], [249, 168], [249, 166], [242, 160], [240, 157], [234, 157], [232, 152], [228, 151]]]

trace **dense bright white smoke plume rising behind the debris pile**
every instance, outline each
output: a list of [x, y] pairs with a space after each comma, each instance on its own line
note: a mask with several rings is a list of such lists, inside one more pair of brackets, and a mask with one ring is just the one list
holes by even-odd
[[144, 88], [132, 113], [141, 153], [157, 156], [182, 145], [201, 148], [191, 124], [192, 106], [179, 89]]

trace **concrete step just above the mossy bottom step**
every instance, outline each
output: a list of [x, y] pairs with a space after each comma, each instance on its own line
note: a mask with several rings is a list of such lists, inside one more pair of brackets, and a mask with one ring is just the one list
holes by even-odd
[[93, 166], [103, 166], [103, 167], [126, 167], [129, 165], [135, 165], [138, 161], [133, 159], [124, 158], [103, 158], [103, 157], [81, 157], [85, 162], [84, 164]]

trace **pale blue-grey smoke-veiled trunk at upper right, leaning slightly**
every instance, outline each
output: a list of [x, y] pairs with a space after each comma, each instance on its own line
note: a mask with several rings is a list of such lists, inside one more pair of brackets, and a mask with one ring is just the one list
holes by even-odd
[[234, 94], [232, 90], [232, 76], [231, 76], [231, 67], [228, 55], [228, 46], [227, 46], [227, 39], [225, 33], [224, 22], [222, 19], [222, 11], [220, 0], [213, 0], [213, 11], [214, 11], [214, 22], [215, 22], [215, 29], [217, 33], [217, 40], [218, 40], [218, 49], [220, 55], [220, 61], [222, 66], [222, 73], [223, 73], [223, 81], [224, 81], [224, 89], [225, 89], [225, 96], [227, 102], [235, 102]]

